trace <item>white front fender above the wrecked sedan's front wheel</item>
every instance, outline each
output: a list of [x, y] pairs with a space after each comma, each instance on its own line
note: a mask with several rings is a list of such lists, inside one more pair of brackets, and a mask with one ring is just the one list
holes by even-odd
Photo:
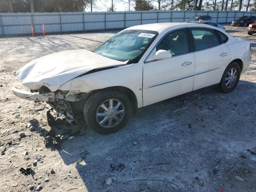
[[143, 106], [142, 73], [143, 63], [119, 66], [74, 78], [60, 86], [59, 90], [92, 92], [113, 86], [123, 86], [134, 92], [140, 108]]

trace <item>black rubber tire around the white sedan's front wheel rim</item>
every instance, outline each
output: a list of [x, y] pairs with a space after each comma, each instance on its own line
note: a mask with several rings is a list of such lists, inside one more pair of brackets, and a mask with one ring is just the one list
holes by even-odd
[[[113, 117], [116, 116], [115, 113], [114, 115], [112, 113], [112, 116], [110, 116], [110, 112], [105, 112], [103, 108], [100, 108], [100, 105], [104, 102], [108, 102], [108, 100], [112, 100], [112, 103], [113, 103], [112, 110], [114, 110], [114, 102], [121, 102], [122, 104], [121, 107], [123, 107], [124, 114], [122, 114], [122, 118], [120, 118], [120, 122], [112, 118], [112, 116]], [[107, 108], [110, 108], [110, 106], [107, 106]], [[114, 126], [110, 126], [110, 128], [102, 127], [104, 126], [104, 123], [101, 126], [100, 125], [101, 121], [99, 120], [100, 117], [96, 117], [96, 113], [98, 113], [99, 110], [103, 110], [103, 113], [108, 113], [108, 115], [105, 115], [105, 116], [111, 117], [112, 119], [114, 119], [114, 123], [117, 123], [117, 124]], [[84, 105], [84, 119], [86, 123], [90, 128], [92, 128], [92, 130], [94, 130], [99, 134], [111, 134], [119, 131], [128, 122], [131, 112], [132, 112], [132, 107], [131, 107], [131, 102], [128, 96], [122, 92], [115, 91], [115, 90], [100, 90], [100, 91], [94, 92], [90, 95], [90, 97], [87, 99]], [[112, 123], [112, 120], [111, 120], [111, 123]]]

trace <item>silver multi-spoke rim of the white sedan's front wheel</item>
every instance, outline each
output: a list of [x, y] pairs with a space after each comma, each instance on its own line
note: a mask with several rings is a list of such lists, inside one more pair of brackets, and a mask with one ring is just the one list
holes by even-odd
[[122, 122], [124, 114], [124, 104], [120, 100], [108, 99], [98, 107], [96, 120], [103, 128], [113, 128]]

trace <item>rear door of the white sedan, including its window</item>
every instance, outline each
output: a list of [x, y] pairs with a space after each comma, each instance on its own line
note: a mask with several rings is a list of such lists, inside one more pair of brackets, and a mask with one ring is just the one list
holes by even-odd
[[215, 30], [190, 28], [194, 41], [195, 71], [193, 90], [218, 84], [223, 68], [230, 61], [228, 47], [220, 41]]

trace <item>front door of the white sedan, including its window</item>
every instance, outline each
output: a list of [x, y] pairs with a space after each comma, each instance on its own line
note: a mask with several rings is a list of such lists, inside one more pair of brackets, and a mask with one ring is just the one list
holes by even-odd
[[154, 48], [167, 50], [171, 58], [147, 61], [143, 66], [143, 106], [147, 106], [192, 91], [194, 82], [194, 53], [186, 29], [168, 33]]

